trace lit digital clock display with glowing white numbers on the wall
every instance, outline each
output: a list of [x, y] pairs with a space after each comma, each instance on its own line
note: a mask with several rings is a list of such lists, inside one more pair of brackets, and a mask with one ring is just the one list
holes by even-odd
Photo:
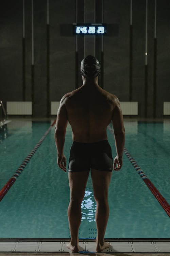
[[106, 24], [73, 24], [73, 33], [75, 35], [103, 35], [106, 34], [106, 32]]

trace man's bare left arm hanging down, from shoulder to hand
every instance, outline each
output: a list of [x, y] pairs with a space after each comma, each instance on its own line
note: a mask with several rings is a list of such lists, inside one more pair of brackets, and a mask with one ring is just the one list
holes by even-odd
[[[57, 164], [63, 170], [66, 169], [65, 168], [66, 159], [63, 152], [64, 152], [66, 128], [68, 124], [67, 110], [65, 106], [66, 97], [67, 96], [64, 95], [60, 101], [60, 106], [58, 108], [56, 124], [55, 124], [55, 133], [54, 133], [55, 145], [56, 145], [57, 154], [58, 154]], [[64, 165], [62, 164], [63, 162], [64, 162]]]

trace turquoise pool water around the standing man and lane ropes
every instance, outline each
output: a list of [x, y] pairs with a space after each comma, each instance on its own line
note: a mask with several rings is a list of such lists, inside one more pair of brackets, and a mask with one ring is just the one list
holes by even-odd
[[[169, 144], [170, 121], [142, 123], [124, 120], [125, 147], [159, 192], [170, 203]], [[13, 120], [0, 132], [0, 189], [11, 178], [49, 128], [50, 122]], [[107, 129], [108, 141], [115, 145]], [[72, 144], [71, 127], [66, 131], [64, 154]], [[40, 145], [24, 171], [0, 202], [1, 238], [69, 238], [68, 172], [57, 166], [54, 127]], [[105, 238], [169, 238], [170, 218], [123, 156], [121, 171], [112, 173], [109, 186], [109, 220]], [[96, 202], [92, 181], [86, 186], [82, 202], [79, 238], [95, 238]]]

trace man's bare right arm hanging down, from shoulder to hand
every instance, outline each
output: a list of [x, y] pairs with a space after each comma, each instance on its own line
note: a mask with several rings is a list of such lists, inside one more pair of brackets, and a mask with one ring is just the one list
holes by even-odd
[[[122, 156], [125, 142], [125, 129], [123, 125], [123, 115], [120, 109], [120, 102], [115, 98], [116, 105], [113, 110], [112, 124], [115, 134], [116, 157], [114, 159], [114, 170], [120, 170], [122, 167]], [[118, 165], [116, 168], [116, 164]]]

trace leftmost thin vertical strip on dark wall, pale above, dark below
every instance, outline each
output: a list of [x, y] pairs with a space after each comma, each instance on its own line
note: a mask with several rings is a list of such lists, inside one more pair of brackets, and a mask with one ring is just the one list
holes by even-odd
[[26, 101], [26, 43], [25, 43], [25, 0], [22, 1], [22, 100]]

